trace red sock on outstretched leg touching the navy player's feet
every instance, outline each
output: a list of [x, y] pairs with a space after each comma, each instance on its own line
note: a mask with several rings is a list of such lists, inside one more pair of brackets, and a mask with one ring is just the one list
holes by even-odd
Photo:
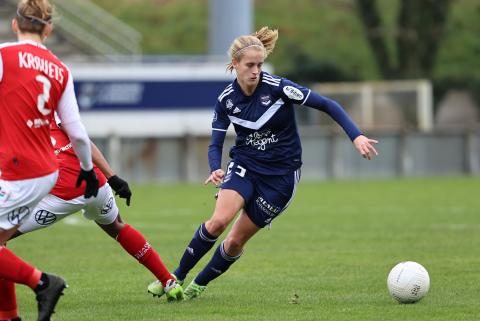
[[117, 241], [125, 251], [149, 269], [162, 282], [163, 286], [169, 279], [173, 278], [158, 253], [150, 246], [143, 235], [132, 226], [125, 224], [125, 227], [118, 233]]

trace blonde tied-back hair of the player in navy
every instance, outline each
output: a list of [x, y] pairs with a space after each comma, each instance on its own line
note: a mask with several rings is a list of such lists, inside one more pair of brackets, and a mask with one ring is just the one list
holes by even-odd
[[[267, 58], [268, 55], [273, 51], [273, 48], [275, 48], [277, 39], [277, 29], [272, 30], [268, 27], [262, 27], [254, 34], [237, 37], [230, 45], [230, 48], [228, 49], [228, 55], [231, 59], [240, 61], [245, 49], [259, 48], [260, 50], [263, 50], [265, 58]], [[233, 71], [233, 64], [231, 62], [227, 65], [227, 71]]]

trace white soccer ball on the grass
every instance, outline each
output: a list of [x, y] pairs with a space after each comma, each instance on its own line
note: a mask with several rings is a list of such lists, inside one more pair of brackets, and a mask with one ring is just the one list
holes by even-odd
[[425, 296], [430, 287], [427, 270], [417, 262], [400, 262], [388, 274], [390, 295], [400, 303], [415, 303]]

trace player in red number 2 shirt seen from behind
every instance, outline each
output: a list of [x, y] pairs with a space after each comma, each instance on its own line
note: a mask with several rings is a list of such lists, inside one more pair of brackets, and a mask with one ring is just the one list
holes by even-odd
[[[0, 45], [0, 244], [8, 240], [58, 176], [49, 125], [57, 111], [78, 155], [85, 197], [96, 196], [90, 139], [80, 122], [73, 80], [67, 67], [42, 43], [52, 31], [48, 0], [23, 0], [12, 20], [18, 42]], [[0, 282], [29, 286], [36, 293], [38, 320], [50, 320], [66, 287], [0, 246]], [[14, 291], [13, 283], [6, 291]], [[2, 288], [5, 290], [5, 288]], [[16, 303], [0, 301], [0, 320], [19, 320]]]

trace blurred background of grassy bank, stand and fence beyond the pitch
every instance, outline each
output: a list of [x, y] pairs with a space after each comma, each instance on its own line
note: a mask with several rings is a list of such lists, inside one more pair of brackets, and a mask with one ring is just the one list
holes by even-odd
[[[265, 69], [340, 102], [380, 156], [299, 106], [304, 180], [480, 174], [477, 0], [50, 0], [47, 46], [72, 70], [82, 119], [137, 183], [208, 176], [231, 41], [279, 30]], [[0, 0], [0, 42], [16, 0]], [[224, 148], [233, 144], [233, 133]]]

